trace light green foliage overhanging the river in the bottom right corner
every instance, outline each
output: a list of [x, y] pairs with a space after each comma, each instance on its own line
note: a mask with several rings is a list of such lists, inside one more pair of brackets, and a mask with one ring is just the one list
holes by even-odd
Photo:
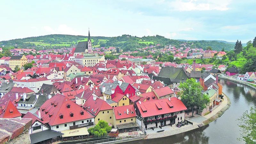
[[251, 108], [250, 112], [246, 110], [243, 115], [237, 119], [238, 126], [242, 129], [240, 134], [242, 138], [238, 140], [245, 141], [246, 144], [255, 144], [256, 141], [256, 109]]

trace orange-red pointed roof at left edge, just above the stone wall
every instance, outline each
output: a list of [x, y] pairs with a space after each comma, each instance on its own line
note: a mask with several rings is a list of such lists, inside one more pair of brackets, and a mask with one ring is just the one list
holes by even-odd
[[1, 113], [1, 118], [14, 118], [22, 116], [18, 109], [12, 104], [10, 100], [8, 100], [6, 106], [3, 109], [3, 113]]

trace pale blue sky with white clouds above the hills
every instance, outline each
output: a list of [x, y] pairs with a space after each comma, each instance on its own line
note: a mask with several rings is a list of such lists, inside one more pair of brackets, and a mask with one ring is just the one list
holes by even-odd
[[49, 34], [164, 36], [246, 43], [256, 0], [0, 1], [0, 41]]

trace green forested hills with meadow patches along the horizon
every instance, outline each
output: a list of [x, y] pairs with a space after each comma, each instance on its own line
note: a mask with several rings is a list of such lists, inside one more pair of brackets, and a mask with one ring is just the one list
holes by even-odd
[[[5, 48], [12, 48], [17, 44], [18, 48], [28, 48], [34, 47], [35, 49], [50, 49], [51, 47], [63, 47], [63, 46], [74, 46], [80, 41], [87, 40], [87, 36], [73, 36], [73, 35], [46, 35], [46, 36], [36, 36], [28, 37], [22, 39], [14, 39], [9, 41], [1, 41], [0, 47], [4, 45]], [[91, 36], [93, 47], [108, 47], [115, 46], [121, 47], [124, 51], [133, 51], [138, 48], [145, 46], [156, 45], [157, 48], [163, 48], [164, 45], [175, 45], [180, 47], [183, 41], [172, 40], [165, 38], [164, 36], [131, 36], [131, 35], [122, 35], [117, 37], [105, 37], [105, 36]], [[222, 43], [217, 41], [189, 41], [190, 47], [206, 49], [208, 46], [211, 46], [213, 50], [220, 51], [224, 47], [226, 51], [234, 49], [234, 44]], [[193, 43], [193, 45], [192, 45]], [[43, 46], [43, 47], [42, 47]]]

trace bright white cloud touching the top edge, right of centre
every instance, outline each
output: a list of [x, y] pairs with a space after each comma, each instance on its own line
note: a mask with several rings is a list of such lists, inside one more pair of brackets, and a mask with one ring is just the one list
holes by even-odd
[[227, 11], [231, 0], [175, 0], [170, 2], [169, 5], [173, 8], [172, 11], [206, 11], [217, 10]]

